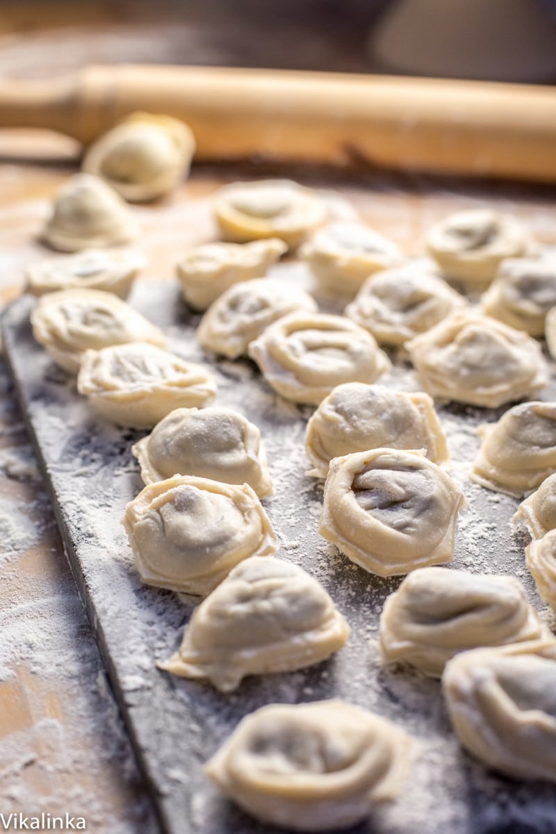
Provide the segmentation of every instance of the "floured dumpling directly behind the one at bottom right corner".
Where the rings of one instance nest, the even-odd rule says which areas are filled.
[[[513,576],[422,568],[388,596],[380,650],[386,663],[440,677],[458,651],[538,640],[547,633]]]

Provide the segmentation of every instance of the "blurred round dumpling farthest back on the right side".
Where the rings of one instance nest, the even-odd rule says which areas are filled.
[[[518,219],[489,208],[450,214],[428,231],[427,248],[449,278],[477,287],[490,284],[504,258],[531,248],[531,235]]]

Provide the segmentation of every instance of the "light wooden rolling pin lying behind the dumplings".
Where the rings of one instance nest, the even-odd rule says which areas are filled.
[[[521,84],[115,65],[0,83],[0,126],[88,144],[126,113],[182,118],[203,161],[281,162],[556,183],[556,93]]]

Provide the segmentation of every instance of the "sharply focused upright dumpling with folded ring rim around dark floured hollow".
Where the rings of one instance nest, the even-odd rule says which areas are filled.
[[[364,570],[406,574],[449,562],[464,499],[419,451],[375,449],[330,461],[319,532]]]

